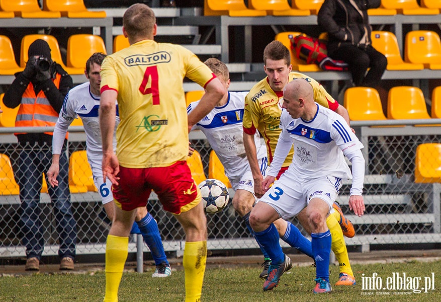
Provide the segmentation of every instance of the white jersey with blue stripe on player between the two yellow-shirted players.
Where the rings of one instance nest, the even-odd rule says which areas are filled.
[[[229,92],[228,101],[221,107],[215,107],[207,116],[200,120],[193,129],[204,132],[211,147],[225,168],[228,178],[237,178],[249,168],[248,159],[243,145],[243,108],[247,92]],[[190,113],[199,101],[187,108]],[[260,136],[254,136],[257,159],[267,156],[266,147],[260,143]]]

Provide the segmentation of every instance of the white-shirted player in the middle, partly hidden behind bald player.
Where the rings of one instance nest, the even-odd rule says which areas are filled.
[[[224,166],[225,175],[228,177],[233,190],[233,207],[244,220],[251,234],[253,231],[249,225],[249,213],[256,200],[254,195],[254,179],[243,144],[243,111],[245,96],[248,92],[228,92],[230,86],[227,66],[216,58],[210,58],[204,62],[221,83],[227,89],[226,94],[216,107],[200,120],[193,129],[200,129],[205,134],[211,147]],[[190,113],[199,101],[191,103],[187,108]],[[257,159],[260,173],[264,176],[268,167],[267,149],[260,143],[258,132],[254,135],[257,150]],[[301,235],[295,226],[288,221],[280,219],[276,222],[279,235],[290,246],[297,248],[306,255],[312,257],[311,242]],[[253,234],[254,235],[254,234]],[[269,259],[264,249],[260,249],[265,259]],[[260,278],[268,275],[268,261],[264,261],[264,269]]]

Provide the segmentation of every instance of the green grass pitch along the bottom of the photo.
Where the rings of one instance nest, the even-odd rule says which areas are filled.
[[[258,279],[260,267],[240,267],[232,269],[207,269],[202,294],[203,301],[238,302],[238,301],[439,301],[441,291],[441,261],[388,263],[371,265],[354,265],[357,277],[356,286],[333,286],[331,294],[313,295],[314,268],[294,267],[282,276],[279,286],[273,291],[263,292],[262,281]],[[397,272],[402,276],[430,276],[434,272],[435,290],[427,293],[411,293],[409,295],[392,295],[393,290],[382,290],[389,295],[363,295],[362,274],[372,276],[376,272],[382,277],[383,285],[386,278]],[[151,278],[152,271],[143,274],[136,272],[124,273],[120,286],[119,301],[184,301],[184,272],[174,271],[168,278]],[[331,284],[338,278],[338,268],[331,267]],[[423,282],[423,281],[421,281]],[[420,283],[419,287],[423,286]],[[102,301],[104,296],[104,272],[85,274],[33,274],[28,276],[0,277],[0,301]],[[401,291],[400,291],[401,292]],[[405,292],[411,292],[406,290]]]

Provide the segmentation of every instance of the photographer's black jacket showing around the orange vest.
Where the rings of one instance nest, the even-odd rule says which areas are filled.
[[[37,82],[36,80],[29,81],[23,76],[22,72],[17,72],[15,74],[16,79],[12,82],[11,86],[5,93],[3,103],[9,108],[19,106],[23,93],[26,91],[29,82],[32,82],[35,94],[43,91],[54,110],[56,112],[60,112],[64,97],[73,87],[73,81],[70,75],[67,74],[67,72],[61,67],[61,65],[54,62],[51,65],[51,74],[55,73],[59,73],[61,75],[60,87],[58,89],[52,82],[52,79],[41,82]],[[44,133],[19,134],[17,135],[17,138],[20,143],[29,142],[34,144],[35,142],[47,142],[49,145],[52,145],[52,135]]]

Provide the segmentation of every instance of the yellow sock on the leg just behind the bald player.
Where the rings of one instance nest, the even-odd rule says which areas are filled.
[[[352,268],[350,267],[349,256],[347,255],[346,244],[344,243],[343,231],[341,231],[340,224],[338,224],[338,221],[332,214],[326,218],[326,224],[331,232],[331,249],[338,261],[340,273],[354,276]]]

